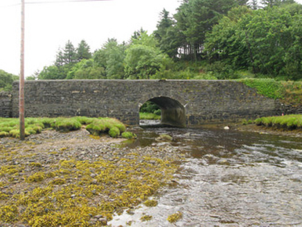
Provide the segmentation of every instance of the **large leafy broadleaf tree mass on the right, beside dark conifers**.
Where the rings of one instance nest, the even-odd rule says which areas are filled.
[[[285,75],[301,79],[301,21],[299,4],[269,10],[234,8],[206,36],[211,61],[231,69],[252,69],[255,75]]]

